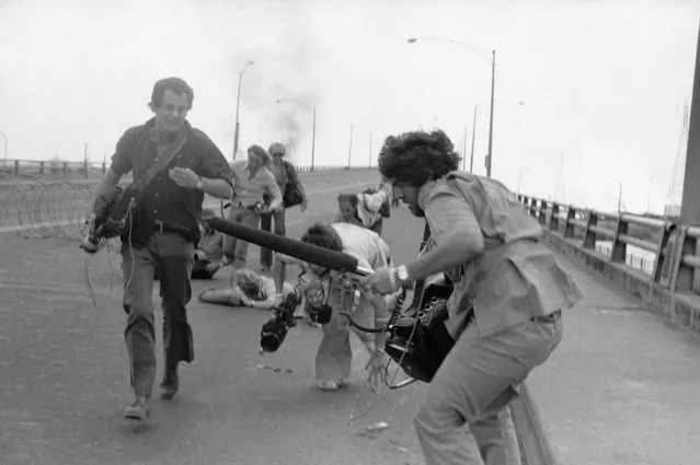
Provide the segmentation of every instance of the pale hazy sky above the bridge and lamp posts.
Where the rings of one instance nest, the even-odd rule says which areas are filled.
[[[153,82],[184,78],[190,121],[231,156],[294,144],[309,164],[376,163],[382,138],[440,127],[461,152],[479,105],[483,174],[496,49],[493,176],[571,204],[663,208],[690,102],[700,2],[685,0],[0,0],[0,131],[10,159],[110,156],[147,120]],[[524,102],[524,105],[518,104]],[[370,132],[371,146],[370,146]],[[370,152],[371,147],[371,152]],[[1,149],[0,149],[1,150]],[[685,147],[684,147],[685,151]],[[469,162],[468,162],[469,163]],[[521,174],[521,176],[519,176]],[[679,174],[682,178],[681,174]],[[653,183],[652,183],[653,177]]]

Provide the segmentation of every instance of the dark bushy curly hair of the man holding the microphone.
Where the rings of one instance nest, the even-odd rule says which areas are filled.
[[[379,152],[379,172],[395,183],[422,186],[459,167],[461,158],[441,129],[389,136]]]

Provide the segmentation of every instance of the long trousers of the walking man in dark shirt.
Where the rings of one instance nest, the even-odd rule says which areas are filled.
[[[156,318],[153,280],[160,278],[163,311],[165,365],[194,360],[192,328],[185,305],[192,298],[190,275],[194,244],[175,233],[154,233],[142,248],[122,243],[124,311],[127,316],[124,339],[131,365],[134,393],[150,396],[156,381]]]

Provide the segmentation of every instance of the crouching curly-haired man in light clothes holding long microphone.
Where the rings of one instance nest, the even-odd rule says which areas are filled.
[[[502,183],[458,171],[441,130],[389,137],[381,175],[435,246],[367,278],[380,293],[445,272],[454,282],[447,338],[454,346],[433,377],[415,429],[427,464],[520,463],[509,402],[562,338],[562,311],[581,289],[542,244],[543,231]]]

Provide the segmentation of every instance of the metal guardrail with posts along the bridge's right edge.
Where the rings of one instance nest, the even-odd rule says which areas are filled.
[[[608,213],[518,195],[530,216],[551,233],[560,234],[612,264],[628,266],[628,245],[655,255],[649,279],[675,292],[700,294],[700,228],[629,213]],[[651,239],[650,239],[651,237]],[[596,247],[608,240],[608,251]],[[636,270],[634,270],[636,271]],[[639,272],[639,271],[638,271]]]

